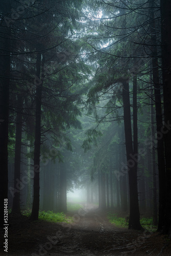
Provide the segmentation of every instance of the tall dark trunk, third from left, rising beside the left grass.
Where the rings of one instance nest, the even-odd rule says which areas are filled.
[[[37,49],[39,50],[39,48]],[[39,174],[40,174],[40,144],[41,144],[41,95],[44,79],[44,60],[41,63],[41,53],[37,53],[36,60],[36,120],[35,120],[35,142],[34,142],[34,185],[33,185],[33,207],[32,220],[38,220],[39,211]]]

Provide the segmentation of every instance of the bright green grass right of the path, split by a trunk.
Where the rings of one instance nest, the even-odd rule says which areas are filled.
[[[128,227],[129,223],[125,221],[125,218],[117,217],[116,214],[108,214],[108,219],[112,224],[118,227]],[[157,226],[153,226],[153,218],[142,218],[140,220],[141,226],[149,231],[156,231]]]

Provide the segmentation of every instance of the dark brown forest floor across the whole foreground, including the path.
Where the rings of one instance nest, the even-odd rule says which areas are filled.
[[[28,217],[9,219],[8,252],[4,252],[1,236],[0,255],[171,255],[171,243],[166,236],[118,228],[92,205],[69,212],[68,216],[73,222],[31,222]]]

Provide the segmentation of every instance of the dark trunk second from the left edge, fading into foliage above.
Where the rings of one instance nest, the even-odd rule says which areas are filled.
[[[17,96],[16,115],[16,137],[15,137],[15,158],[14,158],[14,194],[12,204],[12,214],[20,214],[20,163],[22,150],[22,108],[23,97]]]

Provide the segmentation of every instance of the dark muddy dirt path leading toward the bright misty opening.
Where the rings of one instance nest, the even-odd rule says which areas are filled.
[[[45,255],[157,256],[162,248],[165,249],[158,234],[116,227],[95,205],[84,204],[79,210],[69,212],[68,216],[73,222],[61,224],[57,231],[58,242]],[[168,249],[160,255],[170,256],[170,252]]]

